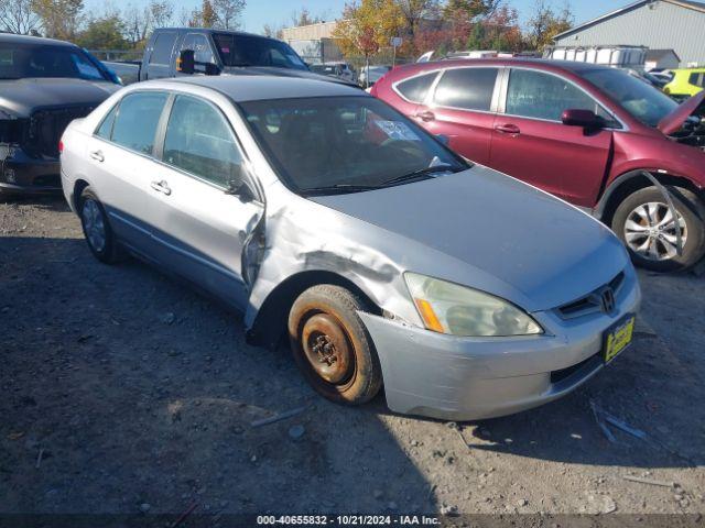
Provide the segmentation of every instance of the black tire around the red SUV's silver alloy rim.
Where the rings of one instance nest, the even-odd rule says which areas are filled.
[[[686,270],[697,264],[705,255],[705,205],[694,193],[687,189],[681,187],[666,188],[671,194],[673,205],[685,221],[686,240],[682,255],[675,255],[662,261],[650,260],[632,251],[627,243],[625,229],[631,212],[644,204],[665,201],[661,191],[655,187],[639,189],[625,198],[617,207],[611,221],[612,231],[629,250],[632,262],[640,267],[655,272]]]

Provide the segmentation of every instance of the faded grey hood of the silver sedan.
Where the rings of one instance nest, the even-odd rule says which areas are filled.
[[[465,272],[456,278],[463,284],[502,295],[529,311],[574,301],[607,284],[629,262],[619,240],[595,219],[482,166],[388,189],[312,199],[460,261]],[[413,251],[404,261],[413,271]],[[491,289],[478,278],[487,276],[508,287]]]

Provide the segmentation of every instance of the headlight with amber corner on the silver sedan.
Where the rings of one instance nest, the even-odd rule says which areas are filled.
[[[415,273],[404,278],[429,330],[466,337],[543,333],[528,314],[499,297]]]

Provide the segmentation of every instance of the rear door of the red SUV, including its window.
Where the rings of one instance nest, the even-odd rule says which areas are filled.
[[[412,117],[432,134],[447,136],[448,146],[462,156],[489,164],[498,72],[496,67],[444,70],[434,94]]]

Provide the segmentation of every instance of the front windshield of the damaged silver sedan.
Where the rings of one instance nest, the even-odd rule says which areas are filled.
[[[365,190],[414,173],[468,166],[371,97],[279,99],[240,107],[282,179],[303,194]]]

